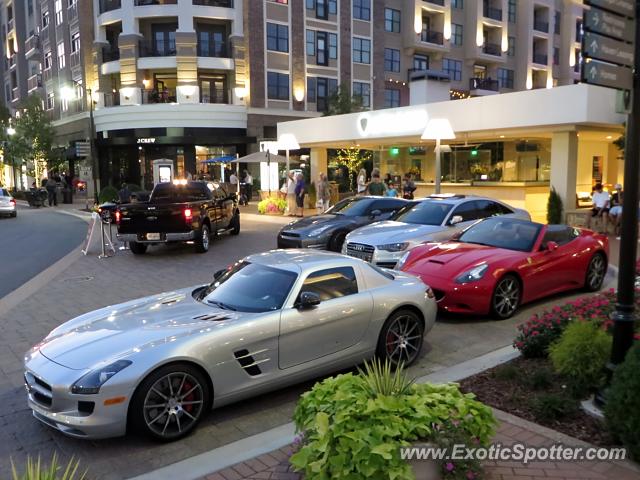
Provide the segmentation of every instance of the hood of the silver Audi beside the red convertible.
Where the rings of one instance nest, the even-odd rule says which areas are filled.
[[[417,225],[414,223],[388,220],[376,222],[354,230],[347,235],[347,241],[365,243],[367,245],[383,245],[398,242],[419,243],[429,240],[429,234],[441,232],[445,228],[446,227],[440,225]]]

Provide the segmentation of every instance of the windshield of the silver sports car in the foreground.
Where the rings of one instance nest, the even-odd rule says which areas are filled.
[[[241,312],[279,310],[297,277],[287,270],[239,262],[209,285],[200,301]]]

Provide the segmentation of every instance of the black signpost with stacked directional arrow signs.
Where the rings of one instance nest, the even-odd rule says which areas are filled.
[[[612,314],[613,344],[608,378],[631,346],[636,320],[635,277],[638,241],[638,182],[640,181],[640,0],[586,0],[582,37],[582,81],[626,90],[630,102],[625,132],[624,207],[620,228],[620,259],[616,309]],[[606,390],[596,394],[603,405]]]

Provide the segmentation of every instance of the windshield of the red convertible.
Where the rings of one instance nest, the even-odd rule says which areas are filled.
[[[494,217],[469,227],[459,241],[530,252],[542,225],[525,220]]]

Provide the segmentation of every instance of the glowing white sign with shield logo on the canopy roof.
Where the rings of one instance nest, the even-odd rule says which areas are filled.
[[[409,136],[422,134],[428,120],[424,109],[362,112],[358,115],[357,127],[361,137]]]

